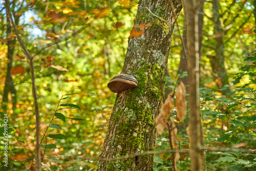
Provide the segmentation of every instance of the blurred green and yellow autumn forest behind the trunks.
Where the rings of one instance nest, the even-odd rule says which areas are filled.
[[[143,34],[133,29],[137,3],[129,0],[10,2],[15,26],[24,45],[34,55],[40,137],[46,131],[47,138],[41,143],[45,148],[42,150],[45,170],[97,169],[116,96],[107,83],[122,70],[128,39]],[[207,170],[256,167],[252,153],[256,147],[255,5],[252,0],[214,0],[203,5],[203,24],[200,24],[203,135],[205,146],[220,149],[206,152]],[[0,149],[4,151],[5,147],[7,114],[11,165],[14,170],[26,170],[31,168],[36,143],[30,62],[6,17],[4,2],[0,3],[0,14]],[[182,10],[177,20],[179,28],[174,28],[166,95],[176,90],[179,79],[187,76],[187,72],[181,72],[183,65],[180,65],[183,14]],[[176,118],[176,109],[172,116]],[[176,121],[177,149],[189,148],[185,128],[188,120],[187,115],[179,125]],[[221,147],[233,150],[224,152]],[[154,156],[155,170],[173,168],[168,149],[165,131],[158,135],[155,144],[155,151],[162,152]],[[190,168],[187,153],[180,153],[176,162],[179,170]],[[5,168],[3,161],[1,166]]]

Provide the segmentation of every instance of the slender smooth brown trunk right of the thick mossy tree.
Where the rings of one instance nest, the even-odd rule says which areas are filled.
[[[191,170],[201,171],[201,117],[199,99],[199,34],[197,1],[185,1],[187,9],[188,83],[190,107],[190,159]]]

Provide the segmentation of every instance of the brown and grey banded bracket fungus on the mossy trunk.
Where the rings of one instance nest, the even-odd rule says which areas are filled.
[[[114,93],[121,93],[124,90],[138,86],[138,81],[134,76],[127,74],[119,74],[110,79],[108,87]]]

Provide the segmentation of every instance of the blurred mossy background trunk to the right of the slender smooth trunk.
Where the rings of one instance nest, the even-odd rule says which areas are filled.
[[[220,88],[222,88],[225,84],[228,83],[226,80],[227,72],[224,65],[225,62],[225,56],[224,56],[224,41],[223,41],[223,29],[221,27],[220,22],[220,12],[219,12],[219,0],[212,0],[212,12],[214,15],[212,18],[214,19],[214,34],[215,34],[215,56],[210,57],[211,62],[211,68],[212,71],[217,73],[218,78],[221,82],[217,81],[217,85]]]

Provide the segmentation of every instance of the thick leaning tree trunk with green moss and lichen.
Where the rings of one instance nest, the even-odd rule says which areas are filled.
[[[173,1],[176,14],[181,1]],[[163,22],[153,16],[166,20]],[[167,1],[140,1],[134,28],[143,35],[131,37],[121,73],[133,75],[138,87],[117,94],[106,133],[102,159],[141,153],[126,159],[100,161],[98,170],[153,170],[153,156],[143,154],[154,149],[155,119],[161,108],[165,74],[172,41],[174,16]],[[141,25],[142,24],[142,25]]]

